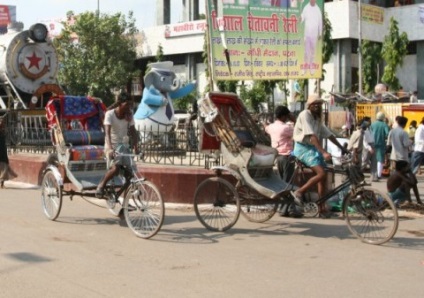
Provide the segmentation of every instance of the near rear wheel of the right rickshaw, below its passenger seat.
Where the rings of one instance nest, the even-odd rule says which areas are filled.
[[[211,177],[204,180],[194,194],[194,211],[208,230],[226,231],[240,216],[240,200],[228,181]]]

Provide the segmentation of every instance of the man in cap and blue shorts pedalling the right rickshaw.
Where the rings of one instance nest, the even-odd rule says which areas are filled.
[[[325,194],[326,173],[324,167],[326,165],[325,161],[331,160],[331,154],[324,150],[322,146],[323,139],[329,139],[340,148],[343,154],[347,153],[347,150],[322,122],[323,102],[324,100],[318,94],[311,94],[306,102],[306,110],[299,114],[294,126],[294,155],[315,173],[315,176],[292,193],[297,204],[302,204],[303,194],[314,185],[318,186],[318,195],[320,197]],[[321,215],[324,215],[324,206],[319,207]]]

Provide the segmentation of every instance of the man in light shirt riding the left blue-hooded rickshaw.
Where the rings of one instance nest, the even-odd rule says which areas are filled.
[[[131,145],[134,152],[137,153],[137,134],[134,127],[134,118],[132,113],[133,101],[126,93],[121,93],[118,100],[109,107],[103,121],[105,128],[105,155],[108,163],[108,171],[100,181],[96,190],[96,197],[104,197],[104,188],[106,184],[115,175],[118,174],[119,165],[129,165],[130,160],[122,156],[115,157],[114,152],[130,153],[128,133],[131,135]]]

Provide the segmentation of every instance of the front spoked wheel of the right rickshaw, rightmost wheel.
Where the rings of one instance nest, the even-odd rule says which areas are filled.
[[[382,244],[396,234],[399,219],[395,205],[388,195],[373,188],[363,188],[348,195],[343,212],[349,230],[361,241]]]

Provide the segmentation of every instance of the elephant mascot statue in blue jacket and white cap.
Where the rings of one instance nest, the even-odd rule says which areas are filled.
[[[167,144],[167,132],[174,125],[172,100],[192,92],[196,84],[190,83],[180,88],[180,81],[172,71],[172,61],[150,63],[150,71],[144,77],[143,97],[134,114],[135,127],[140,132],[142,142],[151,137],[159,137],[162,145]]]

